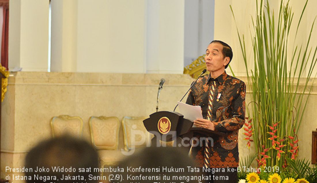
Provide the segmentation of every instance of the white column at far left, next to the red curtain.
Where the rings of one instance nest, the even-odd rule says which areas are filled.
[[[47,71],[49,0],[10,1],[9,69]]]

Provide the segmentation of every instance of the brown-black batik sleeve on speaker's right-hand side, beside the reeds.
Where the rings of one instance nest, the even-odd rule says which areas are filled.
[[[241,82],[240,88],[237,90],[237,94],[231,103],[232,112],[229,118],[223,121],[212,123],[215,125],[215,131],[218,132],[232,132],[239,130],[245,120],[245,84]]]

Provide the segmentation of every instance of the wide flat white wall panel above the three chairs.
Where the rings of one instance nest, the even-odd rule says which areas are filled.
[[[145,0],[78,0],[77,71],[145,73]]]

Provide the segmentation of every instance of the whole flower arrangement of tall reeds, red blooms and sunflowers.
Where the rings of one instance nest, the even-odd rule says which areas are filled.
[[[246,54],[250,48],[247,48],[245,37],[236,25],[253,100],[251,108],[246,108],[252,119],[246,118],[243,134],[247,146],[250,148],[253,144],[256,149],[255,157],[249,155],[240,164],[249,167],[256,159],[258,167],[273,169],[257,173],[238,172],[241,182],[317,182],[317,166],[310,167],[308,160],[297,159],[297,133],[307,106],[308,97],[305,95],[309,96],[312,88],[309,80],[317,63],[317,46],[310,44],[314,22],[308,39],[288,51],[291,50],[288,43],[296,42],[307,2],[303,3],[301,15],[294,26],[294,13],[289,1],[281,1],[277,14],[270,9],[268,0],[256,1],[256,16],[252,17],[251,30],[251,59],[254,60],[251,71]],[[290,40],[290,31],[296,32],[294,40]],[[303,86],[301,91],[300,85]]]

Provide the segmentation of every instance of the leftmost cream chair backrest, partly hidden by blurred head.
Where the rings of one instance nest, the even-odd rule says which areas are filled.
[[[60,115],[51,119],[53,137],[67,133],[75,137],[82,137],[83,122],[79,116]]]

